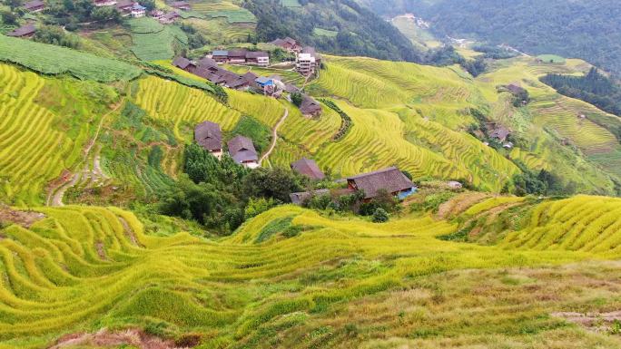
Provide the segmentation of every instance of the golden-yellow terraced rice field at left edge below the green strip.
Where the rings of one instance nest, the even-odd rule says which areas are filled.
[[[43,203],[48,182],[80,160],[92,131],[88,123],[72,135],[58,127],[61,115],[38,104],[46,83],[35,73],[0,64],[0,198],[7,203]]]

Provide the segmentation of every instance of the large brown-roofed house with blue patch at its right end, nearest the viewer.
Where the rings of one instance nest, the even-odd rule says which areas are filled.
[[[399,199],[404,199],[416,192],[416,186],[396,167],[364,173],[347,179],[351,190],[364,190],[364,199],[378,196],[380,190],[386,190]]]

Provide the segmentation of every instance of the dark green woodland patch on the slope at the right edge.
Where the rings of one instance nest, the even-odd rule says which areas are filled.
[[[595,68],[585,76],[548,74],[541,81],[567,97],[589,102],[603,111],[621,116],[621,86]]]

